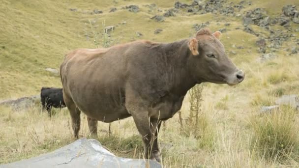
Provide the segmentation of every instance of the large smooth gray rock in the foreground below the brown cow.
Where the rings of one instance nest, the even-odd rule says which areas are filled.
[[[1,168],[162,168],[153,160],[115,156],[100,142],[86,138],[76,140],[53,152],[30,159],[0,165]]]

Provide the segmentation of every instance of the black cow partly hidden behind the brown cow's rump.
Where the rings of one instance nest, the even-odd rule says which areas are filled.
[[[65,107],[62,88],[42,87],[40,90],[40,99],[43,110],[47,110],[50,117],[52,107],[60,109]]]

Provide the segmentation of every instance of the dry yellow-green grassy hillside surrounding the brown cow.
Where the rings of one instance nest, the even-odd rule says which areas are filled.
[[[299,167],[298,112],[284,108],[272,114],[258,115],[261,106],[273,105],[279,96],[299,94],[299,54],[290,55],[299,43],[299,31],[296,31],[299,24],[290,21],[286,28],[279,24],[270,25],[274,32],[281,30],[283,35],[292,34],[275,48],[269,46],[273,41],[268,39],[271,33],[267,28],[250,25],[259,33],[256,36],[243,30],[242,19],[247,11],[257,7],[265,8],[267,16],[275,19],[283,14],[281,9],[286,4],[297,5],[299,10],[299,1],[251,0],[249,5],[246,0],[240,10],[234,8],[234,15],[201,14],[179,8],[176,16],[164,17],[164,22],[150,19],[174,8],[176,1],[2,0],[0,99],[39,94],[42,86],[61,87],[59,76],[45,68],[59,69],[64,54],[70,50],[136,39],[171,42],[193,36],[196,32],[194,24],[209,22],[207,27],[212,31],[226,28],[221,41],[228,55],[245,71],[245,80],[234,87],[202,84],[203,101],[196,125],[199,131],[194,131],[193,122],[185,122],[190,119],[189,104],[193,101],[190,97],[185,99],[182,118],[176,114],[162,126],[159,134],[164,166]],[[193,0],[180,2],[191,4]],[[240,2],[227,0],[223,6]],[[150,5],[152,3],[155,5]],[[125,8],[129,5],[138,5],[139,11],[129,11]],[[113,7],[117,10],[109,12]],[[94,9],[103,13],[95,14]],[[225,26],[227,23],[230,25]],[[115,26],[110,38],[103,35],[106,26]],[[158,28],[163,31],[155,34]],[[143,35],[138,36],[137,32]],[[263,55],[256,44],[259,38],[267,39],[266,54],[272,53],[275,58],[257,61]],[[67,110],[56,111],[57,115],[49,119],[38,106],[26,112],[0,107],[0,164],[37,156],[73,141]],[[80,135],[89,136],[84,114],[81,123]],[[98,127],[103,129],[99,131],[99,141],[115,154],[140,157],[141,139],[132,118],[112,123],[111,137],[103,133],[108,124],[99,122]],[[181,130],[179,134],[177,130]]]

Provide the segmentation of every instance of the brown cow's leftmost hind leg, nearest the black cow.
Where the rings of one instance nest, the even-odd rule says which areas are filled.
[[[63,94],[63,99],[64,99],[65,105],[71,115],[74,136],[76,139],[78,139],[79,138],[79,130],[80,130],[81,111],[77,108],[74,101],[70,97],[66,96],[66,94]]]

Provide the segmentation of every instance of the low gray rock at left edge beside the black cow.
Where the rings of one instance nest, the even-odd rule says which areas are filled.
[[[8,100],[2,100],[0,101],[1,106],[11,106],[12,110],[14,111],[20,111],[20,110],[26,110],[36,103],[40,102],[40,95],[34,95],[29,97],[21,97],[18,99],[8,99]]]

